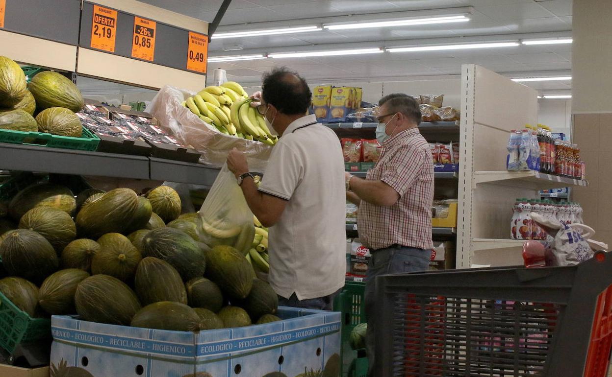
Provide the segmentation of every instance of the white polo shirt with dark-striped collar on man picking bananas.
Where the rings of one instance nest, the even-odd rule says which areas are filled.
[[[338,136],[307,115],[291,123],[268,160],[259,191],[288,200],[269,229],[270,285],[300,300],[343,287],[346,273],[344,159]]]

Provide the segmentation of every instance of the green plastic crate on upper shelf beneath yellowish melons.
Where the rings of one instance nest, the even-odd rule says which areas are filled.
[[[0,130],[0,142],[94,151],[98,148],[100,139],[83,127],[83,135],[81,137],[59,136],[42,132]]]

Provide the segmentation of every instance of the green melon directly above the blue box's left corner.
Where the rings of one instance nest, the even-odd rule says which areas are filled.
[[[76,286],[88,277],[88,273],[76,268],[51,274],[40,286],[40,306],[50,315],[75,314]]]

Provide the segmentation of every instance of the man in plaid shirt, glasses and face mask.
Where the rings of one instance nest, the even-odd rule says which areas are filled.
[[[379,101],[376,139],[382,146],[378,163],[361,179],[346,173],[346,197],[359,206],[359,238],[372,257],[365,280],[366,335],[373,377],[375,346],[375,277],[425,271],[431,248],[433,162],[419,133],[419,104],[405,94]]]

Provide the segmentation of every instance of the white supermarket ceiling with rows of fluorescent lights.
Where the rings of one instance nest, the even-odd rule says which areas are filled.
[[[222,4],[222,0],[142,1],[209,22]],[[519,43],[496,48],[210,62],[209,72],[223,68],[228,78],[253,84],[260,82],[263,72],[279,65],[293,68],[310,82],[395,81],[406,76],[458,75],[461,64],[468,63],[510,77],[571,75],[571,44],[520,43],[526,39],[570,38],[571,0],[233,0],[216,34],[325,26],[350,17],[356,17],[361,23],[384,21],[398,12],[408,12],[401,14],[409,18],[449,15],[455,10],[455,13],[469,10],[469,21],[347,30],[324,28],[256,37],[215,38],[212,35],[209,51],[211,57],[225,57],[458,43]],[[539,90],[567,90],[571,81],[526,84]]]

